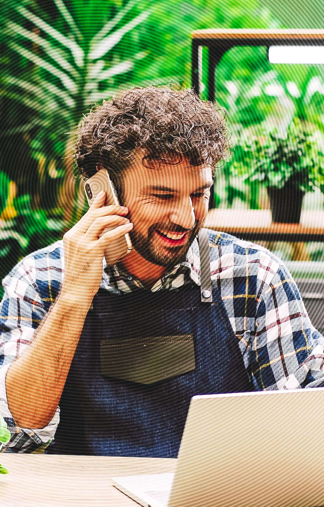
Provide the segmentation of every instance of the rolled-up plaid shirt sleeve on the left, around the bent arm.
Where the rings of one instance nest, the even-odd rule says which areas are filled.
[[[49,445],[59,424],[57,411],[47,426],[41,429],[19,427],[8,406],[6,374],[12,363],[30,345],[35,329],[46,315],[35,282],[33,257],[27,257],[3,280],[5,293],[0,304],[0,414],[11,433],[10,442],[2,452],[31,453]]]

